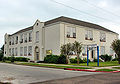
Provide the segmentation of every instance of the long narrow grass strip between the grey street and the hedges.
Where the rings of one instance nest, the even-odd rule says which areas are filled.
[[[38,66],[38,67],[49,67],[49,68],[73,68],[73,69],[91,69],[88,67],[75,67],[75,66],[62,66],[62,65],[47,65],[47,64],[38,64],[38,63],[16,63],[19,65],[28,65],[28,66]]]

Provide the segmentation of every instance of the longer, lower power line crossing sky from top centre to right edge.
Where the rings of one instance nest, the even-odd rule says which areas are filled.
[[[93,14],[90,14],[90,13],[87,13],[87,12],[84,12],[84,11],[81,11],[81,10],[79,10],[79,9],[77,9],[77,8],[73,8],[73,7],[71,7],[71,6],[65,5],[65,4],[60,3],[60,2],[57,2],[57,1],[55,1],[55,0],[50,0],[50,1],[52,1],[52,2],[54,2],[54,3],[57,3],[57,4],[60,4],[60,5],[63,5],[63,6],[65,6],[65,7],[71,8],[71,9],[73,9],[73,10],[76,10],[76,11],[78,11],[78,12],[84,13],[84,14],[89,15],[89,16],[92,16],[92,17],[95,17],[95,18],[99,18],[99,19],[101,19],[101,20],[104,19],[104,20],[108,20],[108,21],[113,22],[113,21],[110,20],[110,19],[106,19],[106,18],[98,17],[98,16],[96,16],[96,15],[93,15]],[[116,24],[116,23],[118,23],[118,22],[113,22],[113,23]],[[120,24],[120,23],[118,23],[118,24]]]

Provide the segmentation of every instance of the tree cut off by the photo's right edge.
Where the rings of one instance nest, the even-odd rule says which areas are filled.
[[[120,64],[120,40],[114,40],[111,44],[112,49],[114,50],[114,52],[117,54],[118,56],[118,63]]]

